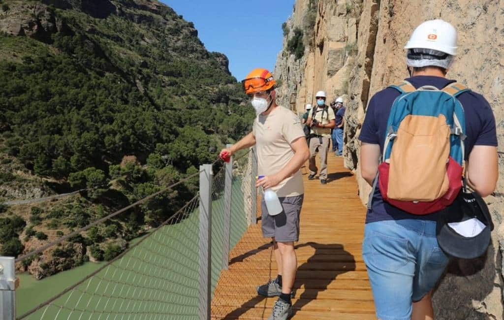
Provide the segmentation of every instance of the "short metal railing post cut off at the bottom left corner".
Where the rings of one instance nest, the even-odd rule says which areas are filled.
[[[0,257],[0,318],[16,318],[16,268],[14,257]]]

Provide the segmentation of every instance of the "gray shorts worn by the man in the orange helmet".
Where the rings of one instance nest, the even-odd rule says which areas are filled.
[[[264,237],[275,237],[277,242],[299,240],[299,214],[304,195],[279,198],[283,211],[276,216],[268,214],[266,203],[261,201],[261,223]]]

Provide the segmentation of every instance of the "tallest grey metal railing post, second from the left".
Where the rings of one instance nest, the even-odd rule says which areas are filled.
[[[210,320],[212,296],[212,183],[211,164],[200,166],[199,282],[200,320]]]

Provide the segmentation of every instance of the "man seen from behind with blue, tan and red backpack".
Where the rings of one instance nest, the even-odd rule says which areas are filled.
[[[455,28],[426,21],[405,49],[410,78],[369,100],[359,137],[362,177],[374,185],[362,255],[382,320],[433,318],[432,289],[449,260],[436,240],[439,210],[457,196],[464,165],[482,197],[498,177],[492,109],[445,78],[457,54]]]

